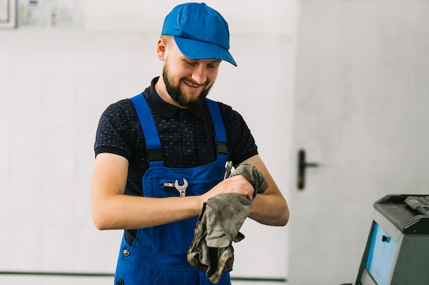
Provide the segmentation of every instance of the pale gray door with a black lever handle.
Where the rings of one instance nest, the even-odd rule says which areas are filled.
[[[292,179],[288,284],[354,283],[373,202],[429,195],[429,1],[298,11],[293,152],[319,165]]]

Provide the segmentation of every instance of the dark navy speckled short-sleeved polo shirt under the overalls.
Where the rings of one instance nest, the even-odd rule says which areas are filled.
[[[204,102],[188,109],[171,105],[156,93],[159,77],[143,92],[164,151],[167,167],[196,167],[216,160],[214,128]],[[234,165],[258,154],[254,137],[242,116],[230,106],[218,103],[225,124],[229,160]],[[119,154],[129,161],[125,195],[143,195],[142,178],[149,168],[145,137],[136,109],[130,99],[110,105],[99,120],[95,137],[95,155],[102,152]],[[133,240],[135,232],[127,231]]]

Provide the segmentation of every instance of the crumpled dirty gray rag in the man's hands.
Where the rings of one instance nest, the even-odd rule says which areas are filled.
[[[248,163],[238,166],[231,176],[243,175],[254,187],[256,193],[268,188],[265,175]],[[206,271],[208,279],[217,284],[222,273],[232,271],[234,248],[244,235],[238,232],[249,216],[253,199],[236,193],[216,195],[204,203],[199,214],[194,239],[188,250],[188,262],[196,269]]]

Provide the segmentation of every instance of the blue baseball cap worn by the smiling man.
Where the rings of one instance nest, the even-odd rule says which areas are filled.
[[[191,59],[222,59],[237,66],[230,49],[228,23],[205,3],[177,5],[165,17],[161,35],[173,36],[182,54]]]

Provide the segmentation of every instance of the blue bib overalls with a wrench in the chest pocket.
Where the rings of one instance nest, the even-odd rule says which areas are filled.
[[[217,160],[208,165],[193,168],[165,167],[160,155],[161,143],[154,119],[145,97],[142,94],[131,98],[142,126],[149,153],[149,169],[143,176],[143,195],[145,197],[167,198],[180,196],[172,187],[174,183],[188,183],[184,195],[201,195],[217,185],[225,174],[226,134],[219,106],[206,99],[215,128],[217,141]],[[121,244],[116,285],[208,285],[213,284],[206,272],[198,271],[186,259],[188,248],[198,217],[176,221],[162,226],[139,229],[132,245]],[[230,285],[229,273],[223,273],[219,285]]]

